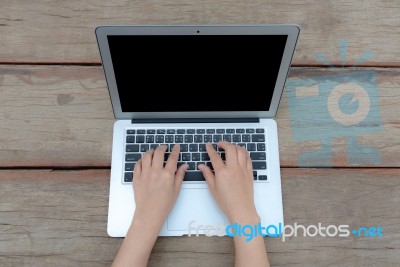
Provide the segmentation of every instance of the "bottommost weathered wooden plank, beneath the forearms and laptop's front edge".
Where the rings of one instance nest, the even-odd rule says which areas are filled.
[[[285,224],[380,226],[383,237],[266,238],[272,266],[398,266],[399,169],[282,169]],[[109,170],[0,171],[1,266],[109,266]],[[159,238],[150,266],[232,266],[228,237]]]

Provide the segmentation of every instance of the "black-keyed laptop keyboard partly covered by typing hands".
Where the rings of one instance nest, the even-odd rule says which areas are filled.
[[[266,133],[262,128],[209,128],[209,129],[128,129],[125,139],[124,183],[131,183],[136,162],[147,150],[159,145],[168,146],[164,161],[175,144],[181,152],[178,166],[187,163],[184,181],[205,181],[197,165],[206,164],[212,169],[205,144],[211,142],[222,160],[225,152],[216,143],[226,140],[245,147],[253,162],[253,177],[256,181],[267,181]]]

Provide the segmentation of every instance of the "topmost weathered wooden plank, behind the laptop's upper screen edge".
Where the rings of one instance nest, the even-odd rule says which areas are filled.
[[[1,62],[100,62],[99,24],[297,23],[295,64],[320,64],[322,53],[341,65],[338,41],[349,42],[346,63],[370,51],[366,65],[400,66],[397,0],[319,1],[61,1],[2,0]]]

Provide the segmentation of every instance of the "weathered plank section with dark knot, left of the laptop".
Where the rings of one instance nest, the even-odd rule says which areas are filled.
[[[114,119],[100,67],[0,69],[2,166],[110,165]]]

